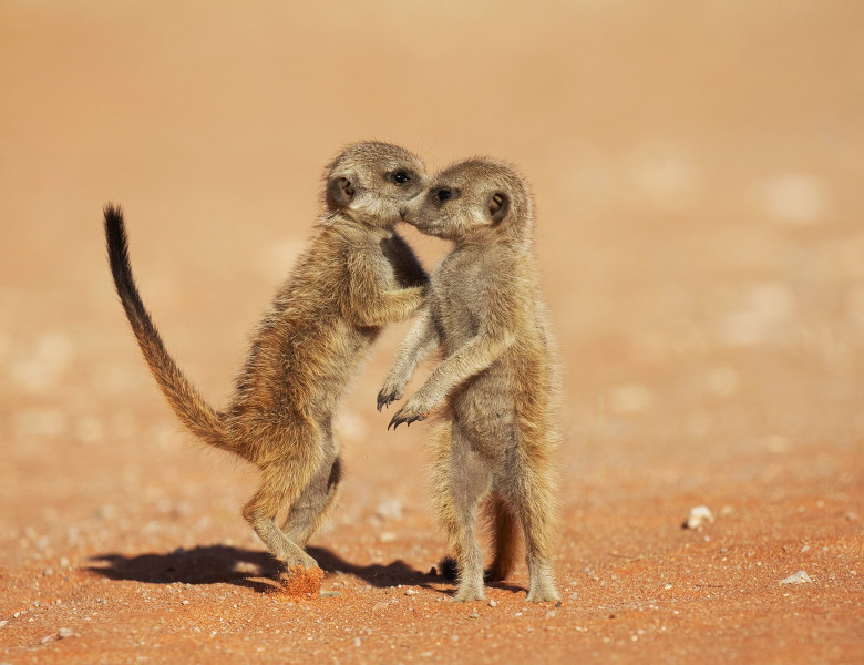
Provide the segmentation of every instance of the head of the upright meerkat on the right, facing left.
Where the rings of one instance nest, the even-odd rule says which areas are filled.
[[[435,175],[425,194],[409,206],[405,222],[457,243],[484,236],[525,239],[532,207],[527,183],[513,166],[479,157]]]

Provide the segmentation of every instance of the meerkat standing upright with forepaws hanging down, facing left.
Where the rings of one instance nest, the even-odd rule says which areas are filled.
[[[428,306],[398,351],[378,409],[401,399],[420,359],[441,347],[443,360],[390,426],[442,406],[449,412],[433,492],[455,554],[455,600],[484,597],[475,533],[483,505],[494,548],[486,580],[512,571],[522,532],[527,600],[557,601],[551,556],[559,387],[536,280],[531,193],[512,166],[470,160],[436,175],[405,221],[455,246],[432,275]]]

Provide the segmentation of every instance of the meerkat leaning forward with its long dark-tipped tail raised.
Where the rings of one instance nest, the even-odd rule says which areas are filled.
[[[393,226],[426,182],[419,157],[385,143],[353,144],[329,164],[323,214],[254,332],[222,411],[166,350],[133,278],[122,212],[104,209],[114,284],[144,359],[193,434],[260,469],[243,515],[281,572],[317,566],[305,546],[341,480],[332,427],[341,393],[382,327],[424,300],[428,276]]]

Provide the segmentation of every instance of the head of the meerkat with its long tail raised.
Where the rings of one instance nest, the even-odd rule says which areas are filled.
[[[342,212],[372,226],[392,226],[407,203],[429,183],[416,155],[390,143],[367,141],[347,147],[327,168],[327,212]]]

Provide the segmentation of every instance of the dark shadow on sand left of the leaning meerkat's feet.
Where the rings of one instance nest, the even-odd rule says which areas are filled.
[[[276,589],[278,562],[267,552],[226,545],[178,548],[167,553],[92,556],[88,570],[109,580],[152,584],[234,584],[266,593]]]

